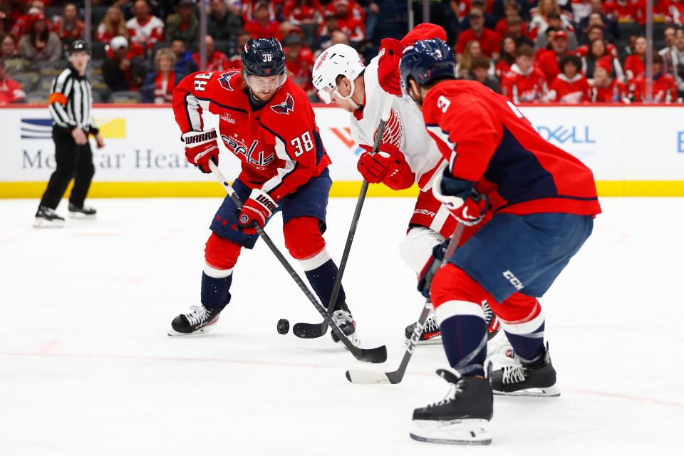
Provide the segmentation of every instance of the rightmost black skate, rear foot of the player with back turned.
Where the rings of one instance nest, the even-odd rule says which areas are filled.
[[[521,363],[520,366],[504,366],[492,372],[492,390],[504,396],[549,396],[561,395],[556,386],[556,371],[551,364],[549,349],[535,363]]]

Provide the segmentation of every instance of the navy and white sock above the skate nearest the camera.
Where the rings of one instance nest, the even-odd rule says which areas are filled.
[[[435,316],[450,366],[461,375],[484,376],[487,323],[482,306],[467,301],[447,301],[437,307]]]

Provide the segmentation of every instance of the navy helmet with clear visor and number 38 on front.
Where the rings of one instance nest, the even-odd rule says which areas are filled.
[[[250,39],[244,45],[242,52],[242,72],[247,86],[257,92],[272,91],[264,90],[263,81],[255,78],[275,78],[277,87],[285,83],[287,70],[285,68],[285,53],[280,42],[276,38]],[[275,90],[275,89],[273,89]]]

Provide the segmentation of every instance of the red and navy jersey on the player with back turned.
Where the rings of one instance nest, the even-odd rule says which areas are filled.
[[[494,214],[601,212],[591,170],[481,83],[438,83],[423,100],[423,118],[453,175],[475,182]]]

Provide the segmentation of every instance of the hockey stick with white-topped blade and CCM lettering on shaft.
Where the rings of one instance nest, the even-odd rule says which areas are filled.
[[[454,252],[456,252],[458,243],[461,240],[461,236],[463,235],[464,229],[464,224],[459,222],[456,225],[456,229],[454,229],[454,234],[452,235],[451,240],[449,241],[447,252],[445,252],[444,259],[442,259],[442,266],[447,264],[447,262],[452,257]],[[411,356],[413,356],[413,351],[415,351],[416,343],[418,343],[420,334],[423,333],[423,326],[425,326],[427,316],[430,314],[430,307],[431,304],[430,300],[428,299],[425,301],[423,311],[420,312],[420,316],[418,317],[418,323],[415,323],[415,329],[413,330],[413,334],[411,335],[411,338],[408,341],[408,346],[406,347],[404,357],[401,359],[399,368],[396,371],[373,372],[361,371],[359,369],[349,369],[346,372],[347,380],[349,380],[351,383],[363,383],[372,385],[388,385],[399,383],[404,378],[404,374],[406,373],[406,367],[408,366],[408,362],[411,361]]]

